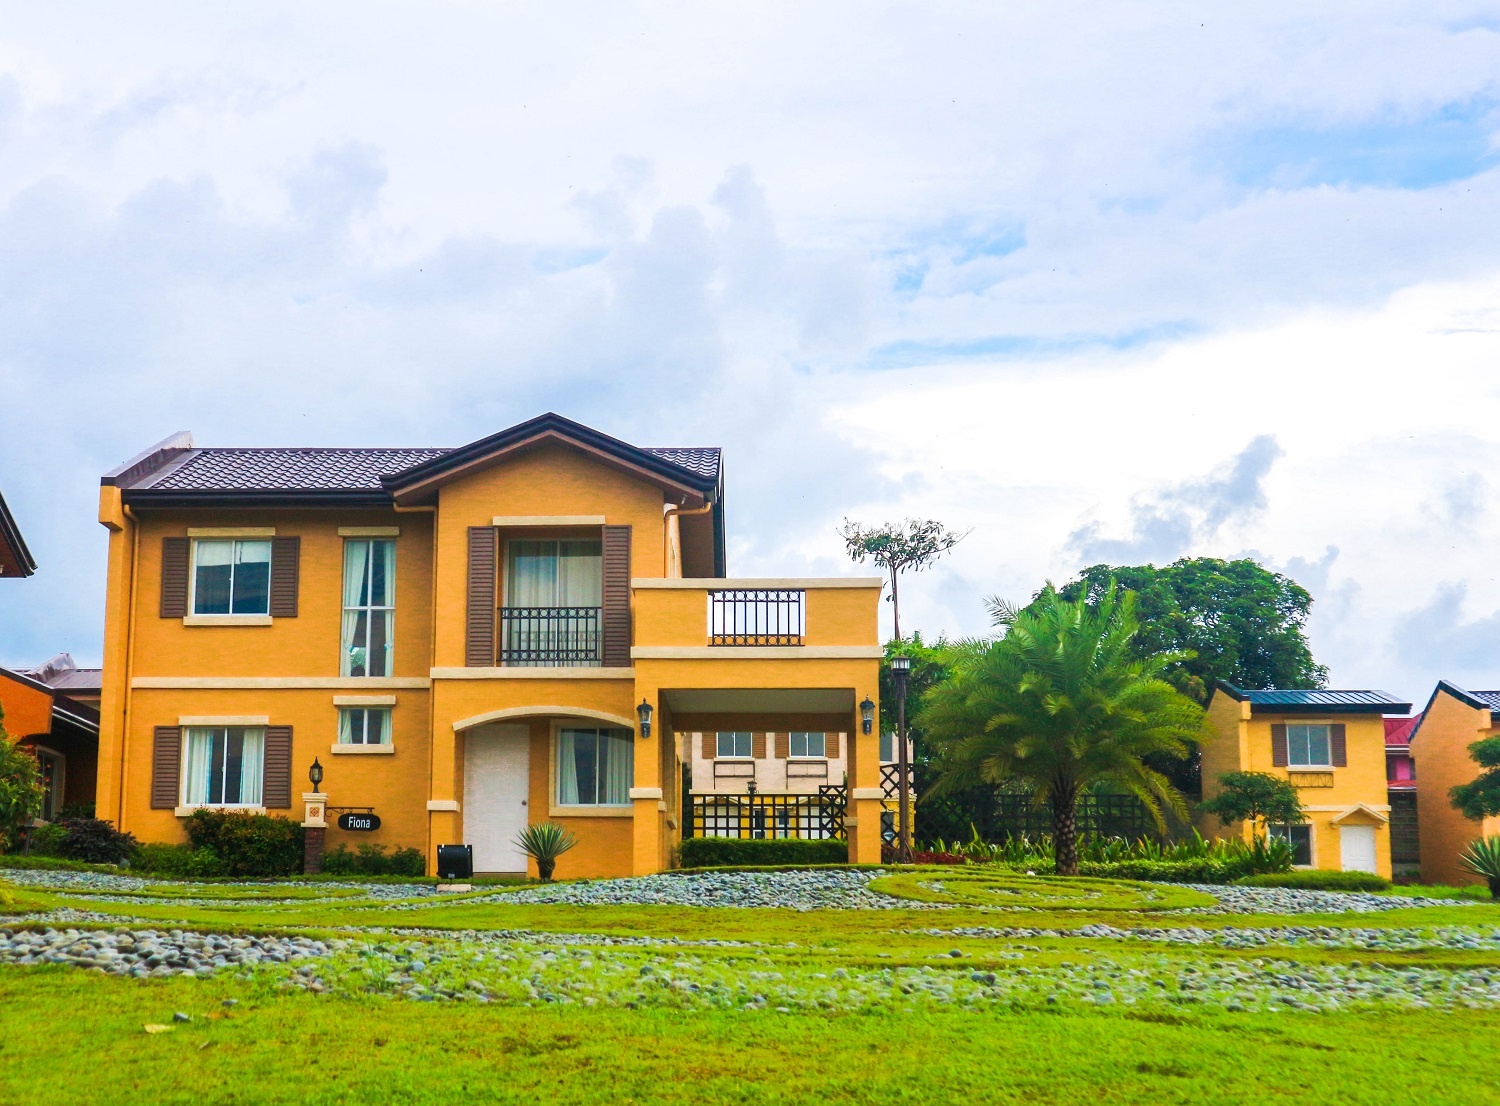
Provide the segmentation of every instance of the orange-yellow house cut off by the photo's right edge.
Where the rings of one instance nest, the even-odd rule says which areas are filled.
[[[1456,783],[1468,783],[1480,768],[1468,755],[1474,741],[1500,734],[1500,692],[1466,692],[1440,680],[1412,734],[1416,776],[1416,822],[1422,849],[1422,881],[1484,882],[1460,866],[1458,857],[1478,837],[1500,834],[1500,818],[1472,821],[1449,801]]]

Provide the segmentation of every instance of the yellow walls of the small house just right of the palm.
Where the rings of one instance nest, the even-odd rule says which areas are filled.
[[[1272,761],[1270,726],[1275,723],[1342,723],[1348,764],[1342,768],[1300,771],[1278,768]],[[1212,738],[1203,744],[1203,798],[1220,792],[1218,776],[1226,771],[1263,771],[1293,783],[1298,777],[1330,779],[1332,786],[1298,786],[1298,797],[1312,827],[1312,866],[1340,870],[1342,852],[1340,824],[1376,827],[1376,870],[1390,878],[1390,803],[1386,794],[1386,731],[1380,714],[1251,713],[1248,702],[1238,702],[1216,690],[1209,701],[1208,725]],[[1377,816],[1353,812],[1365,806]],[[1342,819],[1340,822],[1338,819]],[[1198,830],[1204,836],[1248,837],[1251,827],[1224,827],[1218,818],[1203,815]]]

